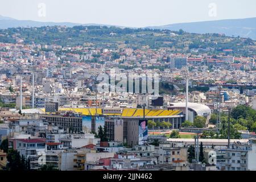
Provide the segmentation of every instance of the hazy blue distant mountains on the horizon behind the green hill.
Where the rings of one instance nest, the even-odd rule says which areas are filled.
[[[80,24],[71,22],[36,22],[32,20],[17,20],[0,15],[0,29],[15,28],[15,27],[42,27],[42,26],[110,26],[105,24]],[[121,27],[122,26],[116,26]],[[173,31],[179,31],[180,29],[197,34],[205,33],[220,33],[228,36],[241,36],[245,38],[251,38],[256,40],[256,18],[246,19],[226,19],[226,20],[214,20],[207,22],[193,22],[193,23],[176,23],[167,24],[164,26],[151,26],[148,28],[167,29]]]

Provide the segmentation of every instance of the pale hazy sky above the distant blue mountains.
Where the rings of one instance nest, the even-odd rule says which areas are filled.
[[[256,17],[255,0],[1,1],[0,15],[41,22],[99,23],[145,27],[203,20]]]

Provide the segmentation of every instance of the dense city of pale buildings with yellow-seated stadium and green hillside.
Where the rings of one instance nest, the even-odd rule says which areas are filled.
[[[181,29],[1,29],[0,170],[255,171],[255,52]]]

